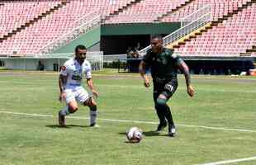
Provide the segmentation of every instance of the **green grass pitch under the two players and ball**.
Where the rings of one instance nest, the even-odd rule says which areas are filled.
[[[167,130],[154,133],[152,87],[143,87],[139,74],[92,75],[101,127],[88,127],[88,108],[80,106],[59,128],[57,73],[0,71],[0,164],[189,165],[256,156],[256,78],[192,75],[190,98],[179,75],[168,101],[178,135],[170,138]],[[131,126],[143,130],[140,144],[127,143]]]

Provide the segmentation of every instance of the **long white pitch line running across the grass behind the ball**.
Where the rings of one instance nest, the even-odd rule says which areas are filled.
[[[44,114],[34,114],[34,113],[22,113],[22,112],[12,112],[12,111],[0,111],[3,114],[11,114],[11,115],[28,115],[28,116],[36,116],[36,117],[56,117],[55,115],[44,115]],[[79,117],[79,116],[67,116],[70,119],[86,119],[88,117]],[[139,123],[139,124],[149,124],[149,125],[157,125],[158,122],[154,121],[144,121],[144,120],[118,120],[118,119],[104,119],[104,118],[97,118],[97,120],[105,120],[105,121],[113,121],[113,122],[123,122],[123,123]],[[190,128],[201,128],[206,130],[230,130],[230,131],[238,131],[238,132],[249,132],[249,133],[256,133],[256,130],[244,130],[244,129],[231,129],[225,127],[212,127],[212,126],[204,126],[204,125],[183,125],[178,124],[178,126],[183,127],[190,127]]]

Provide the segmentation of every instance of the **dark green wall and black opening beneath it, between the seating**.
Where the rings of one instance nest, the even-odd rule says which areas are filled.
[[[104,54],[126,54],[140,43],[140,49],[149,45],[150,35],[168,35],[180,27],[174,23],[136,23],[102,25],[101,50]]]

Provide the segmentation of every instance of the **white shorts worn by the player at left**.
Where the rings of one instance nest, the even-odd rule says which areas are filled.
[[[88,92],[82,86],[67,87],[64,92],[66,93],[67,104],[71,101],[78,101],[83,104],[89,98]]]

